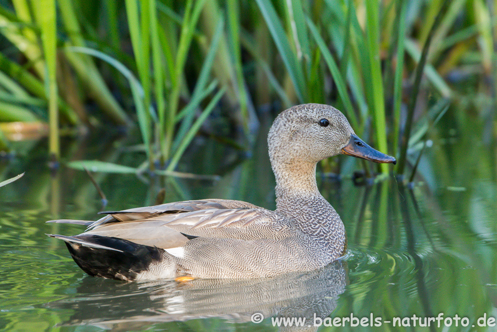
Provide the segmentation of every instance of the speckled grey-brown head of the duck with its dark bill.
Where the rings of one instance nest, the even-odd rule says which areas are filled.
[[[281,112],[268,134],[269,157],[275,164],[317,163],[346,154],[376,163],[396,163],[354,133],[347,118],[328,105],[304,104]]]

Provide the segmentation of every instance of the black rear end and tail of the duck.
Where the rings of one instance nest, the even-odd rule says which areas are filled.
[[[122,238],[80,234],[47,234],[66,242],[76,264],[90,276],[137,280],[151,265],[159,264],[164,249],[134,243]]]

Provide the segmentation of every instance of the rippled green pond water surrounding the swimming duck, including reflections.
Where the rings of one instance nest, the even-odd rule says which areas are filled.
[[[318,271],[126,283],[85,275],[64,242],[45,235],[83,231],[47,220],[154,205],[162,181],[166,202],[224,198],[274,209],[266,134],[263,126],[249,156],[197,138],[181,170],[219,179],[95,174],[105,207],[85,172],[63,166],[50,175],[44,152],[4,161],[3,179],[26,174],[0,188],[0,330],[276,331],[282,317],[307,319],[304,327],[281,328],[289,331],[495,330],[496,148],[489,152],[471,133],[434,140],[412,188],[393,177],[356,186],[351,171],[340,181],[319,173],[320,191],[344,221],[348,254]],[[68,140],[64,151],[137,165],[140,153],[126,150],[128,142],[100,140]],[[352,163],[349,170],[361,167],[340,158]]]

